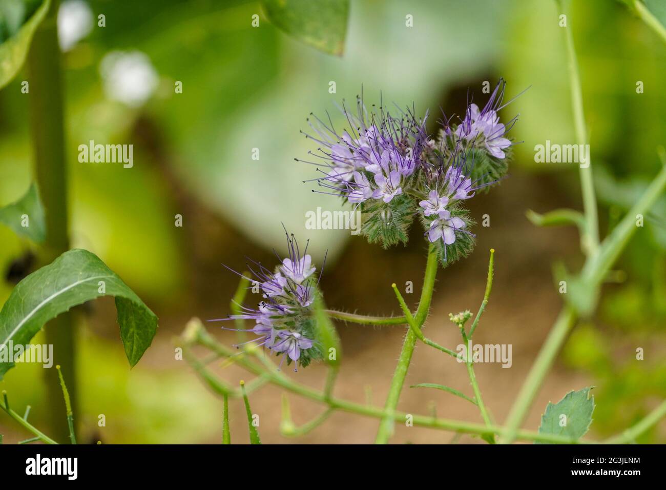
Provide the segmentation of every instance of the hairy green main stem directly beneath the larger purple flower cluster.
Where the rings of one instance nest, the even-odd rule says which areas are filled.
[[[437,275],[437,253],[434,245],[430,243],[428,246],[428,261],[426,263],[426,273],[423,281],[423,289],[421,291],[421,300],[419,301],[418,310],[416,311],[416,325],[422,327],[430,311],[430,301],[432,300],[432,291],[435,286],[435,277]],[[384,413],[386,414],[380,422],[379,431],[375,443],[386,444],[391,437],[394,428],[394,411],[398,406],[400,400],[400,392],[405,383],[407,371],[412,361],[414,354],[414,346],[416,345],[416,331],[410,328],[405,336],[405,341],[402,345],[402,351],[398,358],[396,371],[394,372],[391,386],[388,390],[386,397],[386,404],[384,405]]]

